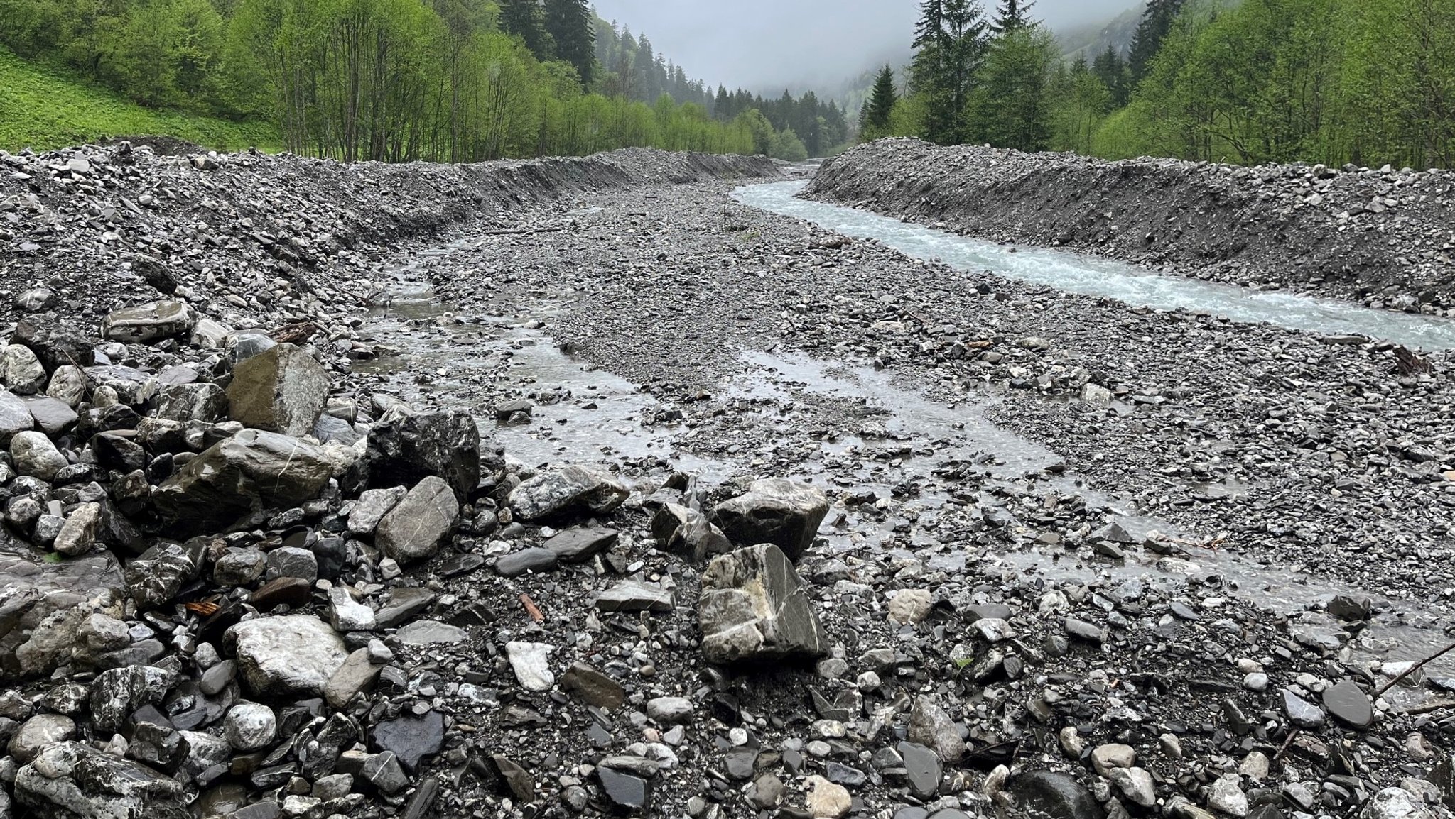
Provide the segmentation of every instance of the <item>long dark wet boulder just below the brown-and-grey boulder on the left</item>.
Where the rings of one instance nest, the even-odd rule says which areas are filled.
[[[188,461],[157,487],[163,519],[202,534],[263,508],[292,508],[327,486],[333,463],[322,447],[244,429]]]

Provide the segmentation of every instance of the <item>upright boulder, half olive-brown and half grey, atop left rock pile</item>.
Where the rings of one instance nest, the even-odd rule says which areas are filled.
[[[294,345],[278,345],[233,368],[227,401],[233,420],[301,436],[313,432],[329,400],[329,372]]]

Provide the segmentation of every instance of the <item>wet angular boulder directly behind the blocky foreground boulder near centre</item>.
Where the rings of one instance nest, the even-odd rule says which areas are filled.
[[[755,480],[746,495],[719,503],[714,521],[738,546],[771,543],[797,560],[813,546],[825,515],[828,496],[821,489],[773,477]]]

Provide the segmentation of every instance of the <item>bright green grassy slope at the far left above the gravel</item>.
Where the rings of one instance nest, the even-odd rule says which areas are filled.
[[[275,148],[279,143],[272,124],[151,111],[0,48],[0,148],[49,150],[137,134],[233,151],[250,145]]]

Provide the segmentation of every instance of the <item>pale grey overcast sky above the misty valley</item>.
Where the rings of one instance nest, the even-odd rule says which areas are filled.
[[[607,20],[646,32],[652,45],[710,84],[774,92],[838,87],[914,39],[920,0],[594,0]],[[994,1],[984,3],[994,7]],[[1052,28],[1110,20],[1136,0],[1037,0]]]

